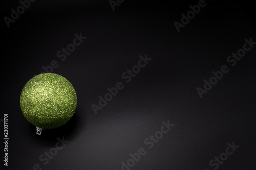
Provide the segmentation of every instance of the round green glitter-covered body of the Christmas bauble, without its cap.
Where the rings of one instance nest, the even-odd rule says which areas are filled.
[[[30,79],[20,94],[20,108],[33,125],[42,129],[60,127],[73,116],[76,92],[64,77],[44,73]]]

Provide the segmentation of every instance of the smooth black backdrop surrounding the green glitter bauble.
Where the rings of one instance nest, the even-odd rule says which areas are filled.
[[[255,54],[251,48],[235,66],[226,59],[256,41],[253,3],[206,1],[177,32],[174,21],[198,1],[128,1],[112,10],[102,1],[36,1],[8,28],[4,19],[1,61],[1,117],[8,113],[8,167],[1,169],[121,169],[121,162],[143,147],[131,169],[214,169],[209,161],[239,145],[218,169],[255,168]],[[2,1],[2,18],[10,17],[18,1]],[[56,53],[74,34],[87,37],[65,61]],[[121,75],[139,56],[152,60],[125,83]],[[41,67],[56,60],[53,72],[67,78],[77,93],[77,108],[60,128],[41,136],[23,116],[20,92]],[[201,99],[212,71],[227,65],[223,75]],[[95,115],[106,88],[121,81],[124,88]],[[144,139],[174,124],[152,149]],[[57,137],[70,142],[47,165],[39,156],[55,147]]]

